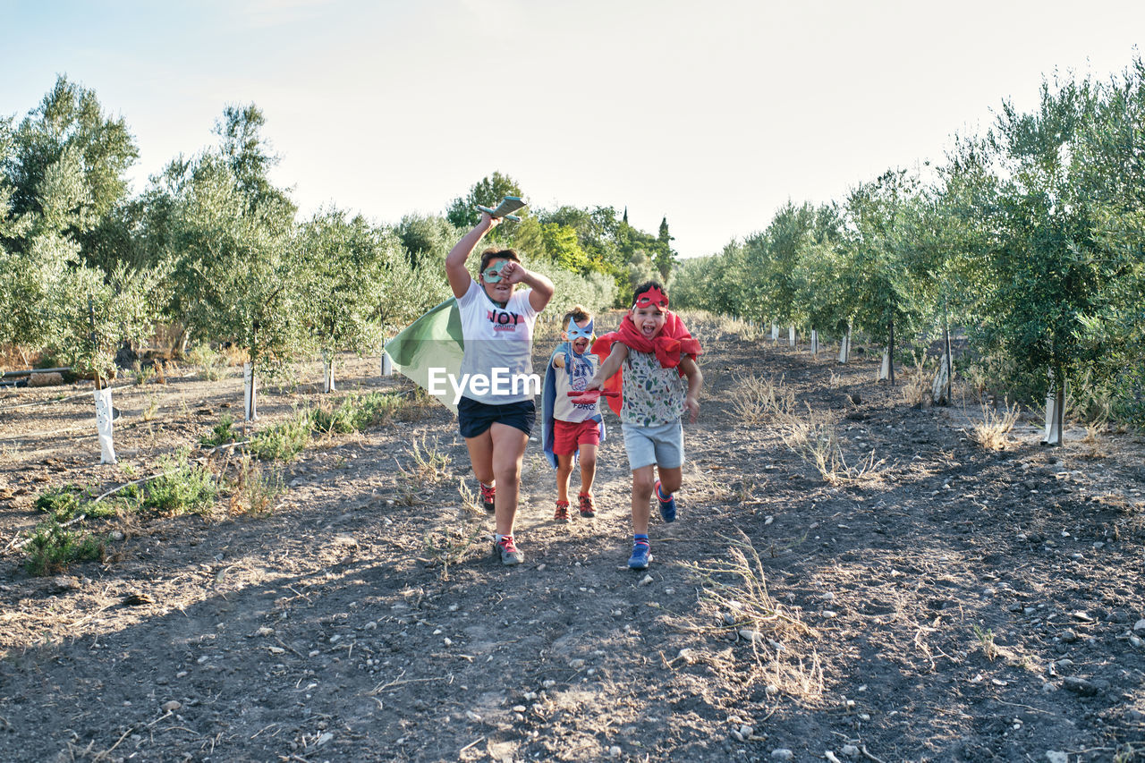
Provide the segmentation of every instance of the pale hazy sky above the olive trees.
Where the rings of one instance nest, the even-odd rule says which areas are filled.
[[[668,218],[685,257],[941,162],[1055,70],[1130,65],[1145,2],[0,0],[0,115],[56,74],[140,150],[133,190],[255,103],[301,213],[396,223],[499,171],[535,205]]]

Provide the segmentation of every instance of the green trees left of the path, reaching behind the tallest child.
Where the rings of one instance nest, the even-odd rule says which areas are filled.
[[[131,196],[135,140],[93,91],[60,77],[18,124],[0,117],[0,346],[97,377],[125,341],[158,335],[174,352],[231,343],[263,370],[315,351],[376,353],[448,297],[443,260],[475,205],[524,196],[495,172],[442,215],[387,225],[331,206],[299,219],[269,180],[263,126],[253,104],[224,109],[213,145]],[[553,280],[551,314],[625,305],[633,284],[671,276],[666,219],[654,236],[626,210],[530,212],[490,238]]]

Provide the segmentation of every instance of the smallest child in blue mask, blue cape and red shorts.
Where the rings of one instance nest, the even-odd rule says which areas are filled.
[[[562,322],[561,344],[556,345],[545,371],[542,403],[542,426],[545,457],[556,469],[556,511],[553,519],[569,521],[569,479],[579,454],[581,493],[577,496],[582,517],[597,516],[592,498],[592,480],[597,473],[597,447],[605,438],[599,399],[583,392],[600,368],[592,344],[592,315],[577,305]],[[570,395],[570,393],[572,393]]]

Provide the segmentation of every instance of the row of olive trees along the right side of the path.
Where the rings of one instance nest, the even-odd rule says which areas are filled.
[[[1087,420],[1145,425],[1145,66],[1043,81],[1036,109],[1003,103],[938,166],[789,202],[682,261],[672,299],[892,346],[962,327],[963,370],[1000,396],[1066,390]]]

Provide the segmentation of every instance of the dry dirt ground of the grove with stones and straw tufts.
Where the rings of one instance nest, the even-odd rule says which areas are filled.
[[[89,386],[2,391],[0,760],[1145,760],[1139,435],[1074,428],[1044,448],[1027,420],[989,451],[968,436],[977,403],[913,408],[870,354],[839,365],[694,330],[703,408],[646,573],[625,566],[615,418],[594,520],[552,521],[530,443],[526,561],[503,568],[434,406],[313,443],[269,517],[220,501],[92,524],[121,538],[106,560],[30,577],[13,545],[38,494],[152,473],[242,417],[242,382],[117,390],[118,465],[97,463]],[[838,411],[875,478],[832,486],[773,423],[740,423],[749,373]],[[263,391],[259,426],[314,404],[319,376]],[[408,385],[373,359],[347,361],[340,387]]]

